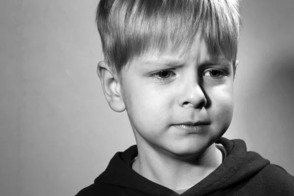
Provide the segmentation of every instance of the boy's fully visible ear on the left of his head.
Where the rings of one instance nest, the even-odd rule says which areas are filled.
[[[97,74],[110,108],[115,112],[123,112],[125,105],[122,97],[122,84],[119,77],[111,71],[104,61],[98,63]]]

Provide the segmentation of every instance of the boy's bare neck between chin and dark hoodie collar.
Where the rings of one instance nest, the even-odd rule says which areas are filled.
[[[140,145],[137,147],[138,157],[132,165],[133,170],[170,189],[195,185],[222,162],[221,151],[215,144],[204,152],[185,158],[163,154],[155,147]]]

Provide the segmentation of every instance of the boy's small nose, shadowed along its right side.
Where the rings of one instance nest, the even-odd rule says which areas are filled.
[[[196,77],[191,80],[186,78],[182,89],[183,91],[178,98],[178,103],[181,107],[202,108],[207,104],[205,92]]]

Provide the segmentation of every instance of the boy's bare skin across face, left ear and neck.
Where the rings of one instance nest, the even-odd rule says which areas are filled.
[[[104,61],[98,64],[110,107],[126,109],[135,134],[133,170],[171,189],[192,186],[221,164],[214,143],[233,114],[232,62],[210,57],[199,34],[191,50],[179,54],[140,56],[123,68],[123,82]],[[175,126],[187,122],[202,125],[194,132]]]

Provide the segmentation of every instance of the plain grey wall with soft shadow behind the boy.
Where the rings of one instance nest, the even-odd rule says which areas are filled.
[[[98,0],[0,1],[0,196],[73,196],[135,144],[96,73]],[[294,1],[243,0],[225,133],[294,174]]]

